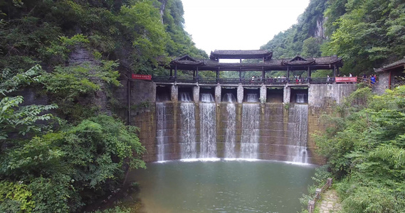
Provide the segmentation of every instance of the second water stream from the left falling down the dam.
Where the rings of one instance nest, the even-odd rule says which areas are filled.
[[[181,96],[182,97],[182,96]],[[196,158],[196,118],[194,103],[180,103],[182,159]]]

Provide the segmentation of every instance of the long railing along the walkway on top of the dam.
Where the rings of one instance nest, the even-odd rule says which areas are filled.
[[[199,84],[333,84],[333,77],[274,77],[274,78],[215,78],[188,76],[154,76],[152,81],[159,83],[199,83]],[[342,82],[342,81],[340,81]],[[343,82],[344,83],[344,82]],[[354,82],[355,83],[355,82]]]

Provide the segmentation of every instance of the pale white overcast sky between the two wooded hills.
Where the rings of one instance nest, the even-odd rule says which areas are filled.
[[[214,50],[258,50],[285,31],[310,0],[182,0],[186,31],[196,47]]]

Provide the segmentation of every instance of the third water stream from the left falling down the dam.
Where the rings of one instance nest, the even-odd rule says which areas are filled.
[[[212,94],[201,94],[200,158],[216,158],[216,107]]]

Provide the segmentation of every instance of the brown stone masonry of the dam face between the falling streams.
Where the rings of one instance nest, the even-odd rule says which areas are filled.
[[[127,118],[127,82],[122,82],[123,87],[115,91],[116,98],[122,108],[120,116]],[[144,153],[145,161],[157,160],[157,139],[156,139],[156,86],[152,82],[131,82],[130,122],[140,128],[140,141],[145,146],[147,152]],[[330,114],[335,103],[342,102],[343,97],[349,95],[356,88],[355,84],[328,84],[310,85],[308,92],[308,157],[310,163],[322,164],[325,159],[317,155],[315,142],[312,133],[322,131],[325,126],[320,122],[320,115]],[[223,158],[224,138],[226,132],[226,104],[216,105],[216,135],[217,153],[219,158]],[[259,158],[270,160],[288,160],[288,152],[285,151],[289,141],[290,130],[288,129],[288,110],[281,103],[279,104],[258,104],[261,108],[261,127],[259,141]],[[165,159],[175,160],[180,158],[181,146],[179,137],[181,136],[181,119],[179,103],[166,103],[167,116],[167,146],[165,146]],[[196,104],[196,142],[199,142],[199,104]],[[241,119],[242,104],[236,104],[236,150],[241,146]],[[271,141],[271,142],[269,142]],[[199,144],[197,144],[199,151]]]

